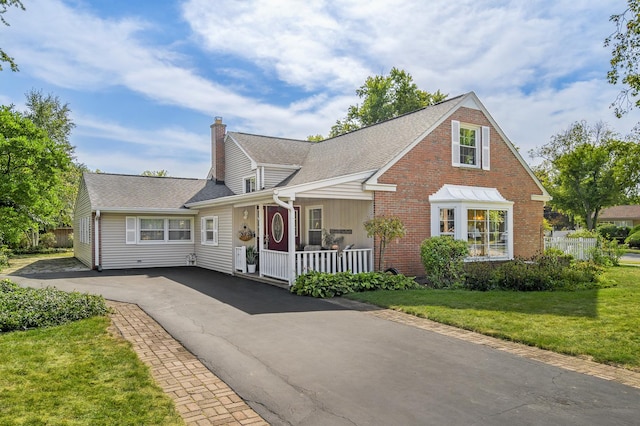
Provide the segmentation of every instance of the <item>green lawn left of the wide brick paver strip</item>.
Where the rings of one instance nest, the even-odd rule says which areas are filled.
[[[0,333],[0,424],[184,425],[109,319]]]

